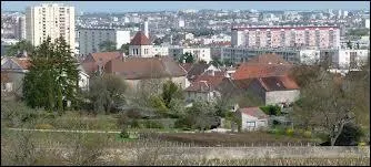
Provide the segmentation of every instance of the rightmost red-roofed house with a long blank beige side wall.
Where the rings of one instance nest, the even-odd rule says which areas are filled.
[[[290,104],[299,98],[298,84],[288,75],[253,79],[248,92],[251,92],[270,104]]]

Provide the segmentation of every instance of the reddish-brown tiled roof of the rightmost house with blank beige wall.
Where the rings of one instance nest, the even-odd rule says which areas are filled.
[[[265,91],[298,90],[298,84],[289,76],[270,76],[255,79]]]

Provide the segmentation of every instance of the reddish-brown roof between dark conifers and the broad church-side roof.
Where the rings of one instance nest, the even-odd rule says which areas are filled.
[[[92,74],[100,70],[100,67],[103,69],[103,66],[109,62],[110,60],[116,59],[122,59],[124,56],[123,53],[120,52],[98,52],[98,53],[90,53],[84,58],[84,60],[81,62],[81,65],[87,74]]]

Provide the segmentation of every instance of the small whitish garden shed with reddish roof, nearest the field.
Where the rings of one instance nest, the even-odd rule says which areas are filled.
[[[269,116],[259,107],[239,108],[237,114],[241,117],[241,131],[259,131],[269,126]]]

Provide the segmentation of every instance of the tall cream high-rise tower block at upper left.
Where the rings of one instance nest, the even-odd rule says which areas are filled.
[[[74,7],[42,3],[26,10],[26,39],[38,46],[47,36],[52,41],[63,36],[74,51]]]

